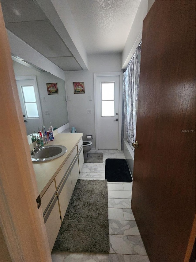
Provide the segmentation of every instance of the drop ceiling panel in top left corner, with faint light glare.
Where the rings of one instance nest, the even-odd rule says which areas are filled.
[[[5,23],[46,20],[46,16],[33,1],[1,1]]]

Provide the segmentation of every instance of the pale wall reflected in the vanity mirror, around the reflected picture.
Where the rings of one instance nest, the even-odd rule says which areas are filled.
[[[50,121],[53,128],[58,128],[68,123],[66,101],[63,101],[63,97],[66,96],[64,80],[47,72],[37,72],[15,61],[13,61],[13,68],[15,76],[36,76],[43,122],[46,130],[47,127],[50,127]],[[57,83],[58,95],[48,95],[46,83]],[[45,98],[45,102],[42,101],[43,97]],[[46,110],[49,110],[50,115],[45,115]],[[37,130],[36,128],[34,130]],[[32,133],[34,130],[32,130]]]

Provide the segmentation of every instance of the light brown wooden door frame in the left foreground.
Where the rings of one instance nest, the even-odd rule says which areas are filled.
[[[8,261],[51,262],[42,209],[37,208],[36,175],[29,157],[29,145],[13,71],[11,50],[0,4],[0,96],[2,133],[0,155],[0,227],[9,252]],[[14,177],[17,179],[13,179]],[[2,250],[2,255],[6,250]]]

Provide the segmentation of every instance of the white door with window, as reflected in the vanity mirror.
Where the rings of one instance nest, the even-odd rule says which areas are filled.
[[[27,135],[42,127],[40,100],[35,79],[16,80]]]

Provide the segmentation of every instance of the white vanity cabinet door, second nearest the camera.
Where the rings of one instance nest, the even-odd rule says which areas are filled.
[[[61,210],[61,218],[63,220],[72,195],[70,170],[68,171],[67,175],[63,179],[63,182],[59,187],[57,193],[58,193],[58,200]]]

